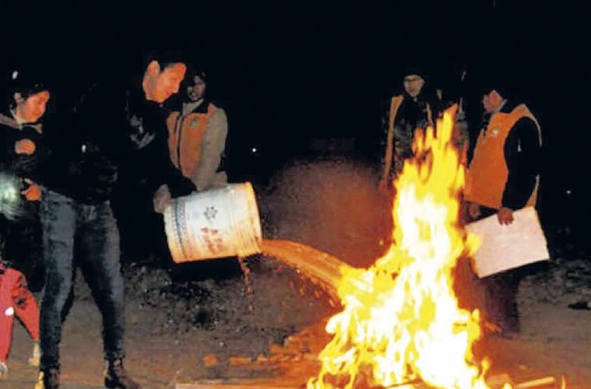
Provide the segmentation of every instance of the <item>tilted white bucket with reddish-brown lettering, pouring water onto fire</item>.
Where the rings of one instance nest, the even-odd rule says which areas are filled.
[[[261,220],[248,182],[173,199],[164,226],[177,263],[261,252]]]

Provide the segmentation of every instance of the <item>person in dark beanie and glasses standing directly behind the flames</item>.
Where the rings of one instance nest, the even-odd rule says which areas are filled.
[[[423,93],[425,85],[425,74],[416,67],[407,67],[403,77],[404,92],[391,98],[382,120],[380,190],[391,188],[391,181],[402,169],[404,160],[412,156],[416,129],[434,124],[435,104]]]

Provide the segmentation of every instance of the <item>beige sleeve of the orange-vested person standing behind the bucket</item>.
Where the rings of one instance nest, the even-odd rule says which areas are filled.
[[[216,108],[203,134],[201,144],[201,158],[195,172],[193,183],[197,190],[205,190],[213,184],[218,167],[222,160],[228,134],[226,113],[222,108]]]

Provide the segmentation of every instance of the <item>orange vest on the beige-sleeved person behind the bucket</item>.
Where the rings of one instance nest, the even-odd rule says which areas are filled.
[[[210,103],[207,113],[181,116],[181,113],[175,111],[166,119],[170,160],[188,179],[193,178],[193,172],[199,165],[205,126],[215,112],[216,107]]]

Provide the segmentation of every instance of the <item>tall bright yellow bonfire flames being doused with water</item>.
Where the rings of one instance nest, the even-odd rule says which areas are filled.
[[[436,388],[487,388],[478,362],[478,310],[458,307],[452,270],[478,240],[458,223],[464,167],[453,146],[455,107],[417,134],[416,157],[394,181],[393,244],[369,269],[343,267],[343,311],[308,389],[389,387],[423,381]],[[506,385],[508,386],[508,385]]]

